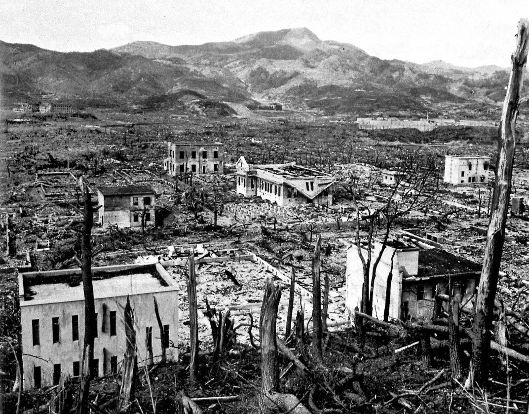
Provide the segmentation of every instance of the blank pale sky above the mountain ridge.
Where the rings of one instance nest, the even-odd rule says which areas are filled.
[[[12,0],[0,8],[0,40],[94,51],[307,27],[381,59],[508,67],[520,17],[529,17],[526,0]]]

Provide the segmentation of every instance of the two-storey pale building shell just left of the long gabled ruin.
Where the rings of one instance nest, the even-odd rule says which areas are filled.
[[[224,144],[221,142],[169,142],[167,155],[163,168],[171,176],[224,172]]]

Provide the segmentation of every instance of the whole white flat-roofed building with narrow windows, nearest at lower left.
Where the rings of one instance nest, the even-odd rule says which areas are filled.
[[[178,361],[178,285],[157,264],[92,268],[94,275],[96,377],[116,374],[126,347],[124,307],[134,312],[138,364]],[[83,361],[85,301],[80,269],[19,273],[23,379],[26,390],[78,376]],[[163,334],[154,313],[158,302]]]

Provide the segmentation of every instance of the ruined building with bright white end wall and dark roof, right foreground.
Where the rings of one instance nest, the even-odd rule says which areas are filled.
[[[378,257],[381,247],[381,243],[375,243],[372,257]],[[367,257],[367,246],[360,250]],[[452,293],[463,303],[473,295],[480,273],[481,265],[464,257],[441,249],[419,249],[390,241],[377,266],[372,315],[383,319],[387,300],[390,319],[432,319],[436,288],[439,293],[448,294],[451,279]],[[363,284],[362,262],[355,244],[347,250],[345,274],[345,306],[354,315],[355,307],[361,309]]]

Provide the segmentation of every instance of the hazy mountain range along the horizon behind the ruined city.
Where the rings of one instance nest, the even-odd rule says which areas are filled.
[[[52,96],[141,104],[192,90],[225,102],[281,102],[326,113],[424,113],[454,105],[497,107],[508,81],[508,71],[497,66],[379,59],[352,44],[322,41],[305,27],[230,42],[139,41],[94,52],[0,41],[0,56],[2,93],[12,102]]]

